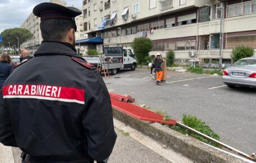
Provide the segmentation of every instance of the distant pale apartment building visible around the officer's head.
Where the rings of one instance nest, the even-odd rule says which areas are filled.
[[[51,0],[50,2],[67,6],[67,3],[65,1]],[[82,11],[81,7],[77,7],[77,8]],[[34,35],[31,39],[21,44],[20,46],[21,48],[29,49],[30,53],[34,53],[43,40],[39,25],[40,25],[40,17],[36,17],[34,16],[33,13],[30,13],[27,19],[20,26],[20,28],[28,29]],[[83,14],[76,17],[76,25],[77,25],[76,40],[87,38],[87,35],[83,31]],[[76,46],[76,48],[79,49],[80,53],[85,53],[85,47]]]

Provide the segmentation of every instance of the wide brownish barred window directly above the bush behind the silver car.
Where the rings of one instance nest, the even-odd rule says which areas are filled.
[[[256,48],[256,35],[250,36],[237,36],[227,38],[227,48],[232,49],[237,46],[248,46],[251,48]]]

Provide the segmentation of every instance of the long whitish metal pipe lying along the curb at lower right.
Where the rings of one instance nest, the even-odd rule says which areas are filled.
[[[205,138],[205,139],[208,139],[208,140],[211,141],[211,142],[214,142],[214,143],[216,143],[216,144],[219,144],[220,146],[222,146],[222,147],[224,147],[224,148],[227,148],[228,150],[230,150],[230,151],[232,151],[232,152],[235,152],[235,153],[237,153],[237,154],[240,155],[240,156],[246,157],[247,159],[249,159],[249,160],[251,160],[251,161],[256,161],[256,159],[253,158],[253,157],[251,157],[250,155],[248,155],[248,154],[246,154],[246,153],[244,153],[244,152],[241,152],[241,151],[239,151],[239,150],[236,150],[235,148],[230,147],[230,146],[228,146],[227,144],[224,144],[224,143],[222,143],[222,142],[220,142],[220,141],[217,141],[217,140],[215,140],[214,138],[209,137],[208,135],[205,135],[205,134],[203,134],[203,133],[200,133],[200,132],[198,132],[197,130],[190,128],[189,126],[184,125],[184,124],[183,124],[182,122],[180,122],[180,121],[176,121],[176,124],[177,124],[178,126],[182,127],[182,128],[188,129],[189,131],[191,131],[191,132],[193,132],[193,133],[195,133],[195,134],[200,135],[201,137],[203,137],[203,138]]]

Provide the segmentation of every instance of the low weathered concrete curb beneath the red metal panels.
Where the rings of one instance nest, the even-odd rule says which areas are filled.
[[[140,121],[116,109],[113,116],[196,162],[245,162],[161,124]]]

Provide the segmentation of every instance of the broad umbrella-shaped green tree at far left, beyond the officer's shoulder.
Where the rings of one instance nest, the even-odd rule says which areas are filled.
[[[19,44],[22,44],[22,43],[26,42],[28,39],[32,38],[33,34],[30,33],[30,31],[27,29],[12,28],[12,29],[6,29],[6,30],[2,31],[1,36],[2,36],[2,40],[3,40],[2,46],[8,48],[9,47],[8,42],[10,42],[11,47],[13,45],[18,47],[17,38],[19,38]]]

